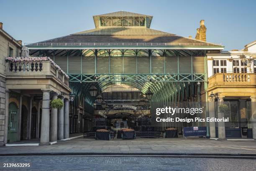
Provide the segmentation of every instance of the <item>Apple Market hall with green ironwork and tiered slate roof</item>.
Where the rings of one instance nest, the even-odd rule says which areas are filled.
[[[204,20],[193,39],[151,29],[152,18],[125,11],[95,15],[95,29],[26,45],[30,56],[49,56],[69,75],[76,95],[70,133],[90,130],[100,117],[116,127],[148,116],[154,129],[175,127],[180,133],[184,126],[206,124],[156,123],[151,114],[166,105],[207,101],[206,54],[223,46],[206,42]],[[152,99],[145,99],[147,92]]]

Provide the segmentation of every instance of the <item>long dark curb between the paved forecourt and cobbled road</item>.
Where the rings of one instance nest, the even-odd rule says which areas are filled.
[[[102,157],[179,157],[179,158],[241,158],[256,159],[256,154],[240,153],[5,153],[0,156],[102,156]]]

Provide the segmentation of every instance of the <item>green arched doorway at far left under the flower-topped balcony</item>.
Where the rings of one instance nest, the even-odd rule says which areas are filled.
[[[8,136],[7,143],[17,141],[18,107],[15,103],[9,104]]]

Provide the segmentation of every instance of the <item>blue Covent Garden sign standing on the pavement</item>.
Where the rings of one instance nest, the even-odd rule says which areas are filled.
[[[184,127],[184,137],[206,136],[206,127]]]

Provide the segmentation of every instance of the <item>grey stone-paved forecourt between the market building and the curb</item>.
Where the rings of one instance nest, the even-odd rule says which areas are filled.
[[[204,155],[254,156],[256,140],[211,140],[205,138],[136,138],[95,140],[74,138],[53,145],[3,146],[0,156],[15,155]]]

